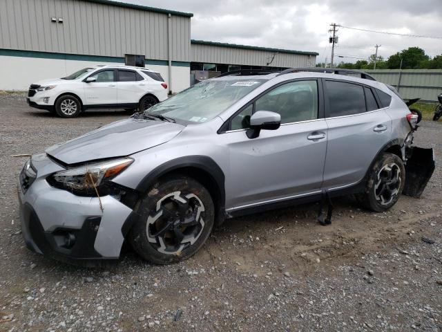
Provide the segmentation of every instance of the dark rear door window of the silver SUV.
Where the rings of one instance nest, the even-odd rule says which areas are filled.
[[[325,86],[329,98],[329,118],[366,111],[363,86],[337,81],[325,81]]]

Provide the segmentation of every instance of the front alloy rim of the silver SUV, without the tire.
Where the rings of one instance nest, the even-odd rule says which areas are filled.
[[[162,197],[148,216],[148,241],[163,254],[176,255],[192,246],[204,228],[204,205],[195,194],[173,192]]]

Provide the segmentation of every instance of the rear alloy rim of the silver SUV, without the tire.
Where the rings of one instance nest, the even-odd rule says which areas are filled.
[[[398,195],[401,187],[401,169],[391,163],[384,165],[378,172],[377,182],[374,185],[376,201],[382,205],[390,204]]]

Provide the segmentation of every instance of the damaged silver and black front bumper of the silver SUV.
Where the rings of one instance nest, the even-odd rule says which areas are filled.
[[[47,160],[46,163],[52,163]],[[40,162],[41,164],[41,162]],[[76,196],[51,187],[45,172],[61,168],[44,165],[28,188],[19,179],[21,230],[26,246],[61,261],[117,259],[124,236],[122,226],[133,210],[113,196]],[[55,166],[54,166],[55,165]]]

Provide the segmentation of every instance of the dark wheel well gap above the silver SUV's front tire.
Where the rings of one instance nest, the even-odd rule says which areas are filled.
[[[215,205],[215,225],[219,225],[224,221],[224,199],[221,194],[221,188],[209,172],[198,167],[180,167],[162,174],[160,180],[166,180],[173,175],[188,176],[204,185],[206,190],[209,190],[213,205]]]

